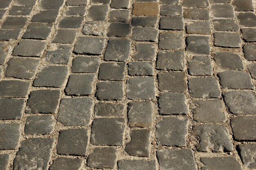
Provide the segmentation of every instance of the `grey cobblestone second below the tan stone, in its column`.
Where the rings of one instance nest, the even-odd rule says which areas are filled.
[[[132,40],[157,42],[158,29],[154,27],[135,27],[132,30]]]

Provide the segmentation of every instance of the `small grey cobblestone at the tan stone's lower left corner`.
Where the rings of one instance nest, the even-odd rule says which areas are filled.
[[[109,13],[110,22],[128,22],[130,13],[128,9],[125,10],[113,10]]]

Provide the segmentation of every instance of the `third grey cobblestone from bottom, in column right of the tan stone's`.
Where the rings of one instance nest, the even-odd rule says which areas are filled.
[[[184,93],[164,93],[158,99],[159,114],[187,115],[189,114]]]

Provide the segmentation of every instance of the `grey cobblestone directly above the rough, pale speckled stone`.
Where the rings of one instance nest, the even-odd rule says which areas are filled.
[[[92,5],[90,7],[88,18],[91,20],[106,20],[108,15],[108,5]]]

